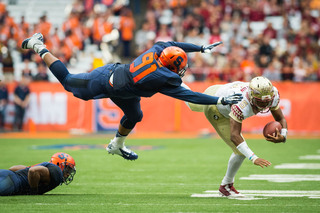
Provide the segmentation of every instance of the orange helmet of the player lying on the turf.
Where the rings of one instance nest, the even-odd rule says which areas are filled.
[[[52,155],[49,163],[60,167],[63,173],[63,182],[66,185],[73,181],[73,177],[76,174],[76,162],[71,155],[63,152],[57,152]]]

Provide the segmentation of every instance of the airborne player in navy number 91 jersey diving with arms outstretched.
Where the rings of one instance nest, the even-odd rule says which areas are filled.
[[[124,145],[126,136],[142,119],[141,97],[162,93],[197,104],[232,104],[242,99],[240,94],[217,97],[197,93],[181,86],[181,77],[187,69],[185,52],[210,53],[221,42],[198,46],[179,42],[158,42],[131,64],[107,64],[90,73],[70,74],[64,64],[53,56],[43,44],[40,33],[25,39],[23,49],[33,49],[47,64],[64,88],[83,100],[110,98],[124,112],[116,136],[107,146],[109,154],[128,160],[138,155]]]

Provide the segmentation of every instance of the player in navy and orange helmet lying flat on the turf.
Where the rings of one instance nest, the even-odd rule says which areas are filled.
[[[62,183],[68,185],[76,174],[75,165],[70,155],[59,152],[50,162],[0,169],[0,196],[42,195]]]

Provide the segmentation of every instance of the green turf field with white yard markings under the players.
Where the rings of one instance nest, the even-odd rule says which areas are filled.
[[[77,164],[77,174],[70,185],[59,186],[41,196],[0,197],[0,212],[320,211],[320,160],[316,157],[320,155],[319,139],[289,139],[286,144],[247,140],[259,157],[273,165],[261,169],[245,160],[235,186],[249,195],[248,199],[240,200],[216,196],[231,154],[231,149],[220,139],[128,139],[127,144],[134,146],[139,154],[139,159],[132,162],[108,155],[102,148],[105,142],[102,138],[88,137],[0,139],[1,169],[48,161],[53,153],[60,151],[71,154]],[[49,147],[61,144],[98,146],[91,147],[93,149],[76,146],[67,150]],[[150,150],[150,146],[153,149]],[[314,157],[300,157],[307,155]],[[312,163],[314,168],[275,168],[293,163]],[[245,179],[254,174],[260,177],[300,174],[318,179],[293,182]],[[213,192],[205,192],[208,190]],[[250,192],[260,194],[250,195]],[[213,197],[192,197],[196,194]]]

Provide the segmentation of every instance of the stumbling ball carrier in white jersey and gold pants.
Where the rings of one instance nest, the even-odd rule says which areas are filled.
[[[183,85],[188,88],[186,85]],[[282,125],[276,135],[269,135],[266,139],[273,143],[286,141],[287,122],[279,107],[279,93],[276,87],[265,77],[255,77],[249,82],[233,82],[225,85],[210,86],[204,92],[208,95],[228,96],[242,93],[243,100],[230,105],[197,105],[187,103],[192,111],[204,112],[208,121],[215,128],[219,136],[228,144],[233,153],[228,162],[226,175],[220,185],[222,196],[242,196],[233,186],[234,178],[243,160],[247,157],[257,166],[267,167],[271,163],[259,158],[248,147],[241,134],[242,121],[259,112],[271,111],[274,119]]]

